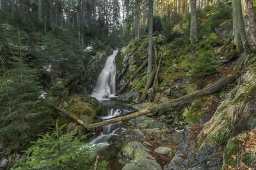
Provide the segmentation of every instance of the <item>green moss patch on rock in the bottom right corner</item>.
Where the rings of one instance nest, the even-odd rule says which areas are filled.
[[[237,155],[239,153],[239,142],[237,139],[234,139],[227,148],[225,148],[224,158],[225,158],[225,167],[236,166],[237,160],[232,157],[232,155]]]

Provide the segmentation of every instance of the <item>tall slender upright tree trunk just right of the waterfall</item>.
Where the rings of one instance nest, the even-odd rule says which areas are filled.
[[[153,40],[153,0],[149,0],[148,8],[148,71],[147,78],[152,71],[152,42]]]

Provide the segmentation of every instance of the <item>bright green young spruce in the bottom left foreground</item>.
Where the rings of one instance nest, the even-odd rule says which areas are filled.
[[[53,129],[52,134],[40,135],[34,145],[25,151],[26,162],[16,169],[93,169],[92,153],[96,146],[83,143],[85,139],[75,137],[75,133],[62,134],[65,125]],[[99,169],[107,162],[102,161]]]

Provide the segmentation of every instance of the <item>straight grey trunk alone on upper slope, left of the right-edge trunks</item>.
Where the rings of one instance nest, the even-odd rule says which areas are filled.
[[[197,24],[196,24],[196,0],[190,1],[190,15],[191,15],[191,23],[190,23],[190,34],[189,40],[191,44],[195,43],[198,40],[198,32],[197,32]]]

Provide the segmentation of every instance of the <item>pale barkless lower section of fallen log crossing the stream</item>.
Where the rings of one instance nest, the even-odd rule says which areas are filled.
[[[122,116],[122,117],[111,118],[109,120],[104,120],[103,122],[99,122],[99,123],[96,123],[96,124],[90,124],[90,125],[87,126],[87,128],[92,129],[92,128],[99,127],[99,126],[114,124],[116,122],[120,122],[120,121],[123,121],[123,120],[129,120],[131,118],[136,118],[136,117],[141,117],[143,115],[148,115],[149,113],[152,113],[152,111],[150,111],[150,110],[141,110],[141,111],[137,111],[135,113],[131,113],[129,115]]]

